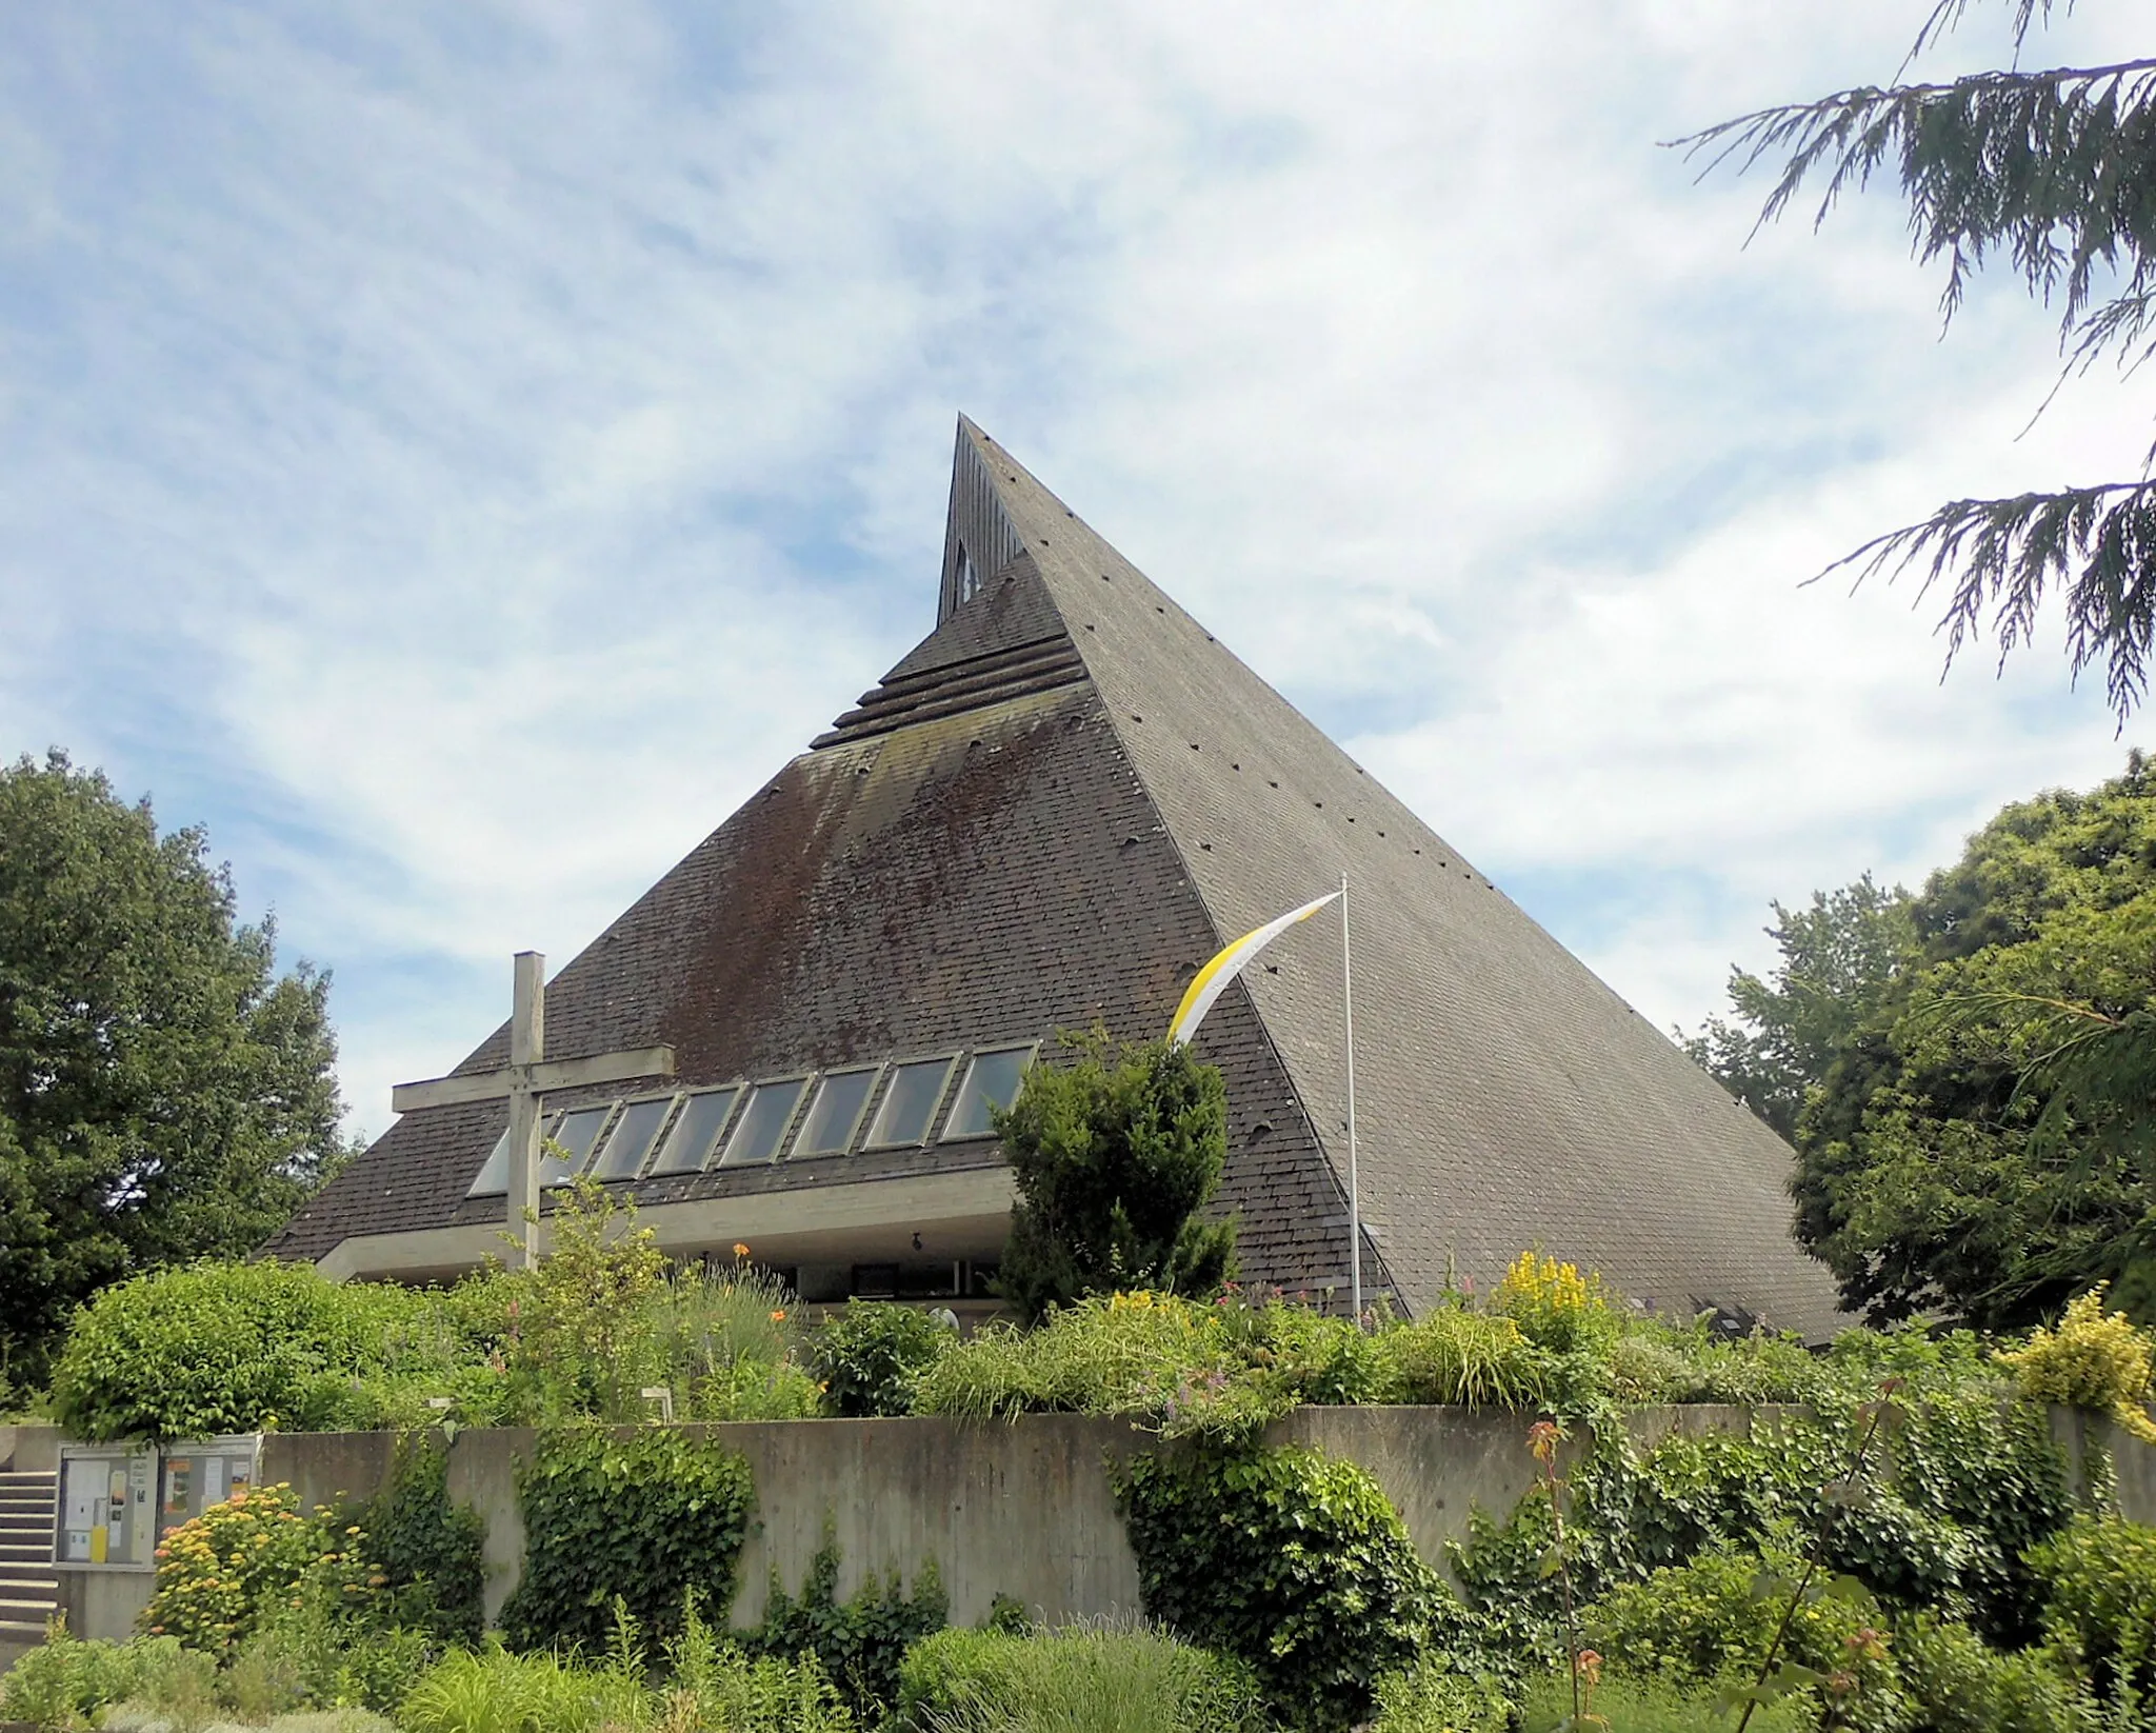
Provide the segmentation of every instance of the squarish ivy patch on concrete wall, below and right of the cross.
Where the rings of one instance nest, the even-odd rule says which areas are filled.
[[[755,1507],[748,1464],[679,1431],[541,1436],[517,1470],[524,1576],[502,1608],[515,1649],[597,1649],[619,1599],[671,1636],[690,1593],[731,1606]]]

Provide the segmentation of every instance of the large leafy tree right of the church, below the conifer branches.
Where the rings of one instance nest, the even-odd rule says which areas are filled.
[[[1871,897],[1861,882],[1813,910]],[[1846,985],[1807,1060],[1798,1239],[1882,1321],[2022,1328],[2102,1280],[2156,1317],[2156,770],[2134,752],[2091,793],[2007,806],[1906,923],[1887,979]],[[1781,935],[1785,983],[1815,933]],[[1757,1050],[1800,1045],[1805,1011],[1740,1000],[1749,1026],[1710,1069],[1742,1093]]]

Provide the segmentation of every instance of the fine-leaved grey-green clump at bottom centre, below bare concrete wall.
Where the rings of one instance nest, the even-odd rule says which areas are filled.
[[[949,1630],[914,1645],[897,1724],[934,1733],[1261,1733],[1250,1673],[1149,1630]]]

